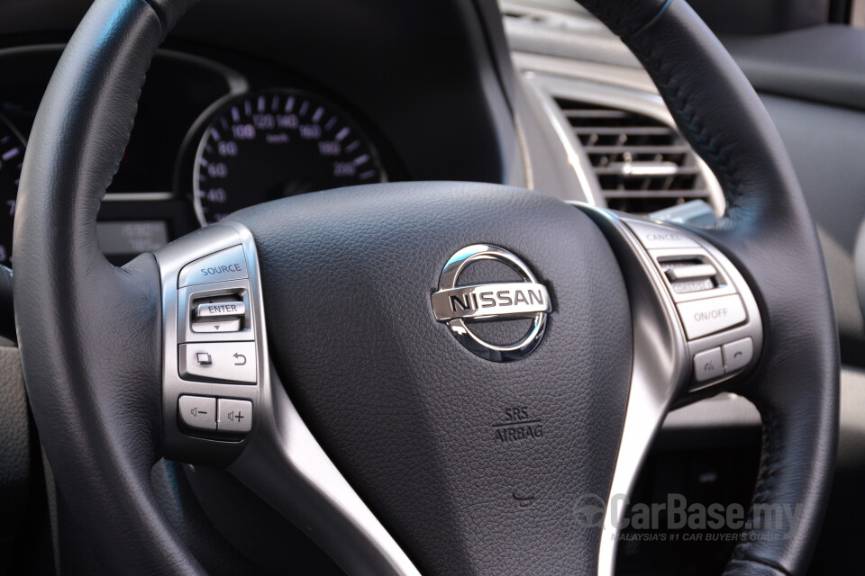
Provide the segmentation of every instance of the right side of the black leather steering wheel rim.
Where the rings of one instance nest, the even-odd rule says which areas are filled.
[[[763,361],[741,389],[763,420],[754,502],[800,505],[801,518],[746,535],[729,573],[803,573],[831,488],[838,427],[838,332],[813,221],[760,99],[686,3],[673,0],[623,40],[722,184],[726,216],[702,233],[740,267],[763,314]]]

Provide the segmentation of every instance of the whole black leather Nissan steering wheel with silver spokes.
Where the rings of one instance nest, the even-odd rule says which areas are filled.
[[[752,509],[796,510],[746,526],[727,572],[805,572],[837,435],[823,258],[777,131],[686,3],[582,4],[715,172],[713,228],[493,184],[377,184],[240,211],[117,268],[96,212],[190,4],[96,0],[19,192],[27,391],[110,572],[203,572],[150,484],[167,457],[226,467],[351,574],[610,574],[616,498],[651,437],[722,391],[763,421]]]

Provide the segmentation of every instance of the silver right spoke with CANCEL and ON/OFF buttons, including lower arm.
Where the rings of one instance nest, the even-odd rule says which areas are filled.
[[[651,441],[669,410],[724,392],[759,361],[760,310],[712,243],[667,223],[574,202],[604,230],[631,298],[633,372],[606,502],[598,574],[614,573],[618,529]]]

